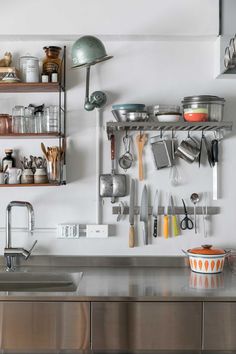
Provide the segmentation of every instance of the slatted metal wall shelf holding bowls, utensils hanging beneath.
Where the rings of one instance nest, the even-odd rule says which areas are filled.
[[[118,131],[231,131],[233,122],[107,122],[108,137]]]

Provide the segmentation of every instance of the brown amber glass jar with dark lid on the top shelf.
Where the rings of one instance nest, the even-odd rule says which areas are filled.
[[[43,59],[43,73],[48,74],[51,78],[52,73],[60,74],[61,59],[59,58],[61,48],[50,46],[43,47],[46,57]]]

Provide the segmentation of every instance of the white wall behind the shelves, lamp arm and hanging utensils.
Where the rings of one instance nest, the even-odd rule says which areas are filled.
[[[79,14],[78,14],[79,17]],[[46,44],[67,45],[67,176],[68,184],[52,188],[1,188],[0,189],[0,227],[5,224],[5,208],[9,201],[28,200],[36,213],[37,228],[55,228],[58,223],[79,222],[93,223],[95,221],[95,112],[85,112],[83,109],[85,72],[70,69],[70,47],[73,42],[55,41],[2,41],[1,54],[12,51],[14,58],[30,52],[43,56],[42,47]],[[104,41],[108,54],[114,55],[112,60],[92,68],[91,91],[105,90],[108,94],[108,104],[103,114],[103,125],[113,120],[111,105],[124,102],[141,102],[146,105],[157,103],[180,104],[181,99],[193,94],[213,94],[226,98],[225,119],[234,121],[236,110],[235,80],[214,79],[214,40],[205,41]],[[15,104],[54,103],[55,94],[2,94],[0,97],[1,112],[10,111]],[[150,135],[154,135],[152,133]],[[135,134],[132,134],[133,136]],[[149,136],[150,136],[149,135]],[[179,139],[186,136],[178,133]],[[210,133],[212,137],[212,134]],[[122,135],[121,135],[122,137]],[[47,145],[52,143],[46,142]],[[25,154],[40,153],[40,140],[1,140],[0,156],[5,147],[14,147]],[[235,230],[235,198],[234,174],[236,172],[234,150],[236,139],[234,132],[228,134],[221,144],[220,180],[222,198],[212,205],[221,207],[220,215],[212,217],[208,222],[211,237],[207,240],[200,234],[183,232],[177,238],[164,240],[163,237],[152,238],[152,244],[143,246],[141,225],[137,225],[138,246],[128,248],[128,218],[119,224],[112,215],[110,200],[104,200],[103,222],[115,225],[113,235],[108,239],[95,240],[81,238],[64,241],[56,239],[55,232],[37,233],[39,243],[35,253],[38,254],[69,254],[69,255],[179,255],[182,248],[189,248],[203,243],[213,243],[224,247],[236,247]],[[121,152],[121,150],[120,150]],[[119,152],[119,153],[120,153]],[[110,171],[109,142],[103,133],[103,172]],[[134,147],[135,160],[137,159]],[[171,191],[177,204],[184,197],[189,204],[192,192],[212,191],[212,170],[207,166],[187,165],[179,162],[182,184],[171,187],[169,170],[156,171],[153,165],[149,145],[145,147],[145,181],[139,184],[138,201],[144,183],[148,184],[150,205],[155,188],[162,192]],[[122,173],[122,170],[119,170]],[[137,178],[137,160],[127,175]],[[127,202],[129,197],[125,198]],[[14,226],[24,226],[26,215],[24,211],[14,211]],[[138,221],[138,220],[137,220]],[[3,253],[4,233],[0,239],[0,252]],[[31,240],[24,234],[14,234],[16,245],[29,245]]]

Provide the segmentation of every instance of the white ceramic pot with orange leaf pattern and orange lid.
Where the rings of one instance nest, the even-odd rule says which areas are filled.
[[[189,258],[191,270],[204,274],[221,273],[225,257],[230,253],[223,249],[213,248],[211,245],[202,245],[183,252]]]

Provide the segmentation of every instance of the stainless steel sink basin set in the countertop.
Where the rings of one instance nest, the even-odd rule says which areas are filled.
[[[82,272],[0,272],[0,291],[74,292],[82,275]]]

